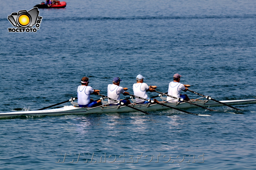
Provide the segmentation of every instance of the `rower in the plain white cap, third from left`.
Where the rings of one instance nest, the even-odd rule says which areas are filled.
[[[137,83],[133,84],[133,93],[135,96],[139,96],[142,98],[148,98],[148,95],[146,94],[147,91],[153,92],[157,88],[157,86],[148,86],[146,83],[143,83],[143,80],[145,77],[142,75],[137,75],[136,81]],[[148,98],[149,99],[149,98]],[[158,102],[156,99],[152,99],[155,102]],[[136,102],[143,101],[142,99],[136,98]],[[149,103],[148,101],[140,102],[139,104],[146,104]]]

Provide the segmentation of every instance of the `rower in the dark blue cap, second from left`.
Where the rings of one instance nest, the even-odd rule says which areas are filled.
[[[129,95],[129,93],[126,91],[126,90],[128,90],[127,87],[123,88],[123,87],[119,86],[120,81],[122,81],[122,79],[120,79],[119,77],[115,77],[115,78],[113,78],[113,81],[112,81],[113,84],[108,85],[108,97],[109,98],[120,101],[121,94],[123,94],[124,96]],[[108,102],[111,103],[110,106],[119,105],[117,102],[112,103],[113,101],[109,100],[109,99],[108,99]],[[130,104],[130,101],[128,99],[121,100],[121,102],[123,102],[125,104]]]

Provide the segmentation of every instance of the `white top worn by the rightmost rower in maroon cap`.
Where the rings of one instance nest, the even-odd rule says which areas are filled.
[[[171,83],[169,83],[168,95],[171,95],[174,97],[180,97],[180,92],[182,90],[185,90],[185,86],[183,84],[172,81]],[[168,102],[176,103],[178,101],[177,99],[174,99],[174,100],[172,100],[172,99],[174,99],[174,98],[167,96]],[[169,100],[171,100],[171,101],[169,101]]]

